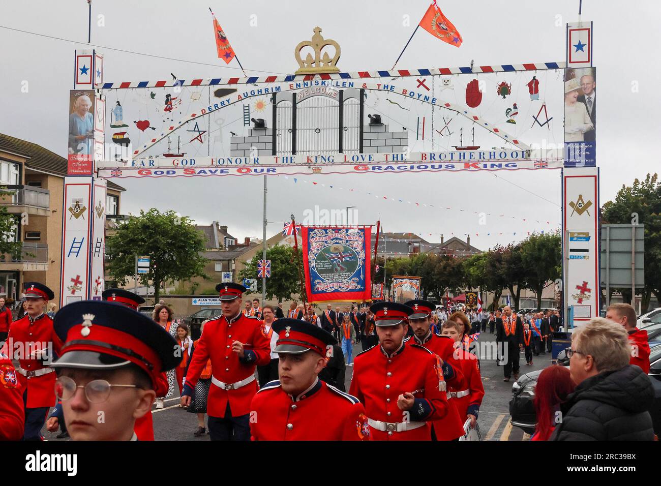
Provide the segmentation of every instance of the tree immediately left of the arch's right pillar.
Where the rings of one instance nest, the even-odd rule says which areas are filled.
[[[561,273],[563,261],[559,231],[530,235],[521,243],[521,257],[527,274],[527,288],[537,294],[537,309],[541,309],[541,294],[544,288],[549,280],[553,283]]]

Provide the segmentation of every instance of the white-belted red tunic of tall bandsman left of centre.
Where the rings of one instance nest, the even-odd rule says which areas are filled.
[[[233,341],[241,341],[245,357],[232,351]],[[219,382],[233,384],[254,375],[257,365],[271,361],[271,346],[262,332],[262,321],[240,312],[228,322],[224,316],[211,319],[204,325],[204,333],[195,346],[188,365],[183,394],[192,396],[200,374],[211,360],[213,378]],[[207,401],[207,412],[211,417],[225,417],[229,400],[232,417],[250,412],[250,403],[257,392],[256,380],[237,389],[226,390],[212,382]]]

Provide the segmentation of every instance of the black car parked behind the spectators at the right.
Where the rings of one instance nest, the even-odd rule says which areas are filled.
[[[650,339],[650,372],[648,376],[654,386],[654,403],[650,408],[650,415],[652,415],[654,433],[659,435],[661,434],[661,341],[657,341],[657,339]],[[564,350],[558,355],[558,364],[569,366],[569,360]],[[512,385],[510,422],[531,435],[535,432],[535,425],[537,425],[533,399],[535,398],[537,377],[541,372],[542,370],[537,370],[526,373]]]

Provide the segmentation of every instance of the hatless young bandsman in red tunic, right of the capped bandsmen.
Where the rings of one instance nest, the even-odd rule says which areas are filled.
[[[461,423],[471,419],[471,427],[475,428],[477,415],[482,405],[482,399],[485,396],[485,387],[482,384],[482,376],[477,368],[477,358],[475,354],[465,349],[459,342],[461,335],[461,326],[456,321],[445,321],[442,325],[442,333],[455,342],[455,355],[461,363],[463,371],[463,385],[456,387],[449,384],[449,392],[452,396],[451,403],[457,407]]]

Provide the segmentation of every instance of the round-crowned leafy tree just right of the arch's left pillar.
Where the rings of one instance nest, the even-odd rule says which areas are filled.
[[[154,299],[159,302],[166,280],[188,280],[204,274],[207,259],[204,237],[188,216],[174,211],[165,213],[151,208],[131,216],[114,235],[106,239],[108,272],[118,283],[126,285],[127,277],[136,271],[136,255],[150,258],[149,273],[138,276],[142,285],[154,286]]]

